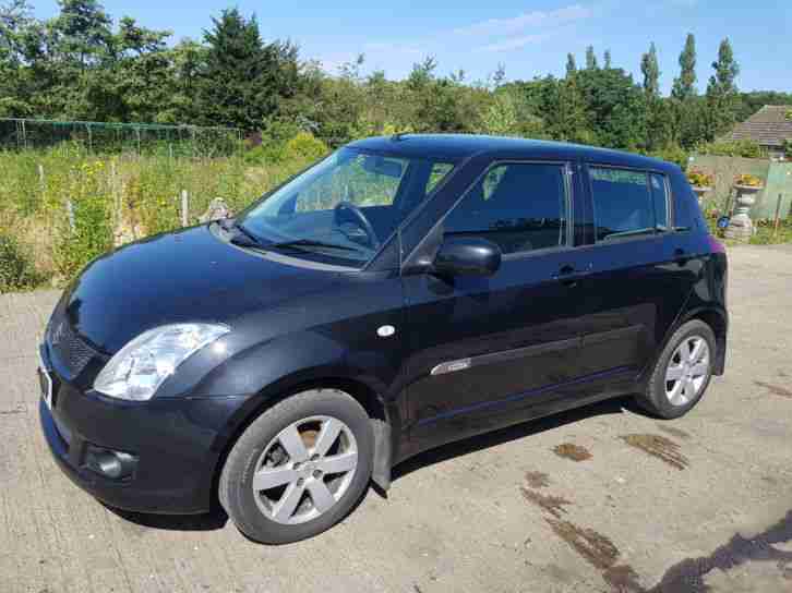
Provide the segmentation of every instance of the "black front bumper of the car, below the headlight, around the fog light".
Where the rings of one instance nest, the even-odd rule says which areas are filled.
[[[77,486],[131,511],[209,510],[217,462],[249,398],[115,401],[48,372],[57,387],[51,411],[39,402],[41,429],[58,465]],[[89,469],[91,446],[136,456],[134,473],[111,480]]]

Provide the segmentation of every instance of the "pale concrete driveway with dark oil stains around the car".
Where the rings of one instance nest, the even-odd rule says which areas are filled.
[[[57,295],[0,296],[0,591],[792,592],[792,249],[730,258],[728,374],[687,417],[620,400],[444,447],[281,547],[73,486],[37,417]]]

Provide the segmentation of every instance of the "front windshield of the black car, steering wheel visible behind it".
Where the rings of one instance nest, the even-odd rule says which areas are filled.
[[[453,168],[341,148],[264,196],[237,227],[263,250],[362,267]]]

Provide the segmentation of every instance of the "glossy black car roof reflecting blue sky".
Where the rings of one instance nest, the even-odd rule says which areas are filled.
[[[352,142],[350,148],[371,150],[405,157],[432,157],[437,159],[463,160],[472,156],[492,158],[536,158],[575,160],[583,159],[602,165],[640,167],[668,171],[676,166],[670,162],[625,153],[598,148],[567,142],[526,140],[503,136],[472,134],[399,134],[376,136]]]

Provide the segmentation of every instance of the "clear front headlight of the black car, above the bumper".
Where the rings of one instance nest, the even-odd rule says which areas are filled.
[[[144,331],[110,359],[94,389],[119,399],[149,400],[182,362],[229,331],[211,324],[166,325]]]

